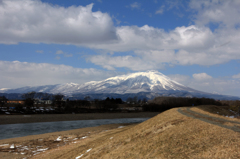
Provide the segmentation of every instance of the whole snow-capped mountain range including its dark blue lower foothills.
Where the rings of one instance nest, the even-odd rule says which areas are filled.
[[[30,91],[57,94],[78,98],[92,96],[93,98],[141,96],[148,99],[155,96],[181,97],[211,97],[222,98],[221,95],[205,93],[186,87],[158,71],[137,72],[111,77],[103,81],[91,81],[85,84],[66,83],[38,87],[22,87],[18,89],[0,89],[0,93],[27,93]],[[226,97],[226,96],[225,96]]]

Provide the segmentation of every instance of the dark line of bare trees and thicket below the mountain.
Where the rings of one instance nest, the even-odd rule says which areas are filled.
[[[51,106],[54,111],[51,113],[86,113],[86,112],[116,112],[121,111],[119,107],[127,105],[127,107],[141,107],[141,111],[163,112],[175,107],[197,106],[197,105],[229,105],[232,110],[240,114],[240,101],[217,101],[210,98],[186,98],[186,97],[155,97],[153,100],[138,99],[138,97],[128,98],[125,102],[121,98],[109,98],[105,100],[91,99],[86,96],[84,99],[69,100],[65,99],[62,94],[47,94],[28,92],[22,95],[25,103],[18,105],[18,111],[31,113],[36,99],[51,100]],[[0,104],[6,104],[7,98],[0,97]],[[36,106],[36,105],[35,105]],[[23,109],[25,107],[25,109]]]

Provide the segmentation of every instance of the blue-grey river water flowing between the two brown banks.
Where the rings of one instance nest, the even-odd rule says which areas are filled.
[[[105,124],[140,123],[149,118],[121,118],[121,119],[98,119],[98,120],[74,120],[25,124],[0,125],[0,140],[7,138],[37,135],[57,131],[95,127]]]

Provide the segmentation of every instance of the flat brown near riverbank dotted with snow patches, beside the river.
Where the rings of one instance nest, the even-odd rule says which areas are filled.
[[[77,143],[85,142],[86,139],[91,139],[98,135],[106,135],[109,132],[120,132],[135,125],[137,124],[108,124],[97,127],[3,139],[0,140],[0,158],[32,158],[45,151],[55,151],[67,145],[71,147]]]

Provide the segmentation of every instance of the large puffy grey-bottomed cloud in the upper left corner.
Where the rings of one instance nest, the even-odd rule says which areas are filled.
[[[111,17],[93,4],[53,6],[40,0],[1,0],[0,43],[107,43],[117,39]]]

